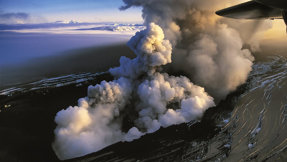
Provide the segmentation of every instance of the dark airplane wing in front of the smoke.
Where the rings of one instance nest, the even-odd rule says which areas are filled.
[[[282,11],[256,1],[249,1],[215,12],[219,16],[236,19],[282,19]]]

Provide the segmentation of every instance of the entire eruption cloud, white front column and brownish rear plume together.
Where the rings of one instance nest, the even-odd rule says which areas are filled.
[[[57,113],[53,149],[60,159],[92,153],[117,141],[132,141],[160,126],[200,118],[214,101],[189,78],[217,100],[225,98],[251,71],[254,58],[243,45],[259,50],[262,32],[258,31],[270,27],[257,23],[256,29],[250,30],[254,25],[247,21],[230,21],[214,14],[238,1],[123,1],[123,10],[143,7],[147,29],[127,43],[137,58],[122,57],[121,66],[110,69],[114,81],[90,86],[78,106]],[[163,40],[163,31],[169,40]],[[189,78],[169,76],[161,70]]]

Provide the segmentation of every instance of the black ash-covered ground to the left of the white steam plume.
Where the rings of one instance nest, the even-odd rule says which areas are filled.
[[[0,95],[0,161],[60,161],[51,147],[56,113],[85,97],[89,85],[112,79],[103,73],[82,86],[72,83]]]

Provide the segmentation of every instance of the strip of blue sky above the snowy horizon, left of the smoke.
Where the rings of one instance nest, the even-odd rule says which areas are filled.
[[[121,0],[0,0],[0,23],[143,21],[142,8],[119,11],[121,5]]]

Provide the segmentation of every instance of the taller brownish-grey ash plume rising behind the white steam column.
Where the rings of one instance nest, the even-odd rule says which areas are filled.
[[[145,23],[163,28],[173,44],[173,62],[164,71],[184,74],[216,101],[243,84],[271,21],[234,20],[215,14],[239,0],[123,0],[121,10],[143,7]],[[232,4],[231,4],[232,3]]]

